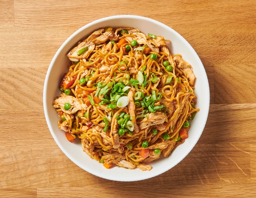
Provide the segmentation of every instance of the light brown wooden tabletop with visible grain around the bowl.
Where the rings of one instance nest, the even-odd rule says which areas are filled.
[[[77,29],[134,14],[179,32],[204,64],[210,110],[192,152],[155,178],[108,181],[70,161],[43,110],[48,66]],[[256,197],[255,0],[0,0],[0,197]]]

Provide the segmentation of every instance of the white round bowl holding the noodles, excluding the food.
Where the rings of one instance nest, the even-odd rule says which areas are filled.
[[[193,67],[196,83],[195,94],[198,97],[196,107],[200,111],[196,114],[195,119],[191,123],[189,130],[189,138],[177,146],[171,153],[169,158],[160,158],[151,163],[153,167],[151,171],[141,171],[140,169],[125,169],[117,166],[106,169],[98,161],[90,159],[90,157],[83,152],[81,142],[76,138],[74,143],[67,141],[64,132],[58,129],[59,117],[52,107],[52,101],[60,94],[58,89],[59,81],[62,75],[67,71],[69,59],[66,54],[77,42],[82,38],[87,37],[94,30],[100,27],[134,27],[141,32],[147,34],[162,35],[166,39],[171,40],[168,47],[172,54],[181,54],[183,59],[190,63]],[[101,178],[114,180],[114,181],[138,181],[154,176],[160,175],[168,171],[173,166],[177,165],[197,143],[200,138],[207,116],[209,112],[209,83],[207,79],[204,66],[201,63],[195,50],[180,34],[175,32],[170,27],[146,17],[133,16],[133,15],[119,15],[106,17],[89,23],[73,33],[58,49],[47,71],[44,83],[44,113],[52,137],[71,161],[77,166],[81,167],[87,172]]]

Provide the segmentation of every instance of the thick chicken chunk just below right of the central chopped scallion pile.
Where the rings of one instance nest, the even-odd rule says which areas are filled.
[[[144,118],[140,122],[140,129],[146,129],[149,126],[162,124],[165,122],[165,120],[166,120],[166,117],[165,117],[164,113],[162,113],[162,112],[150,113],[150,114],[148,114],[148,116],[146,118]]]

